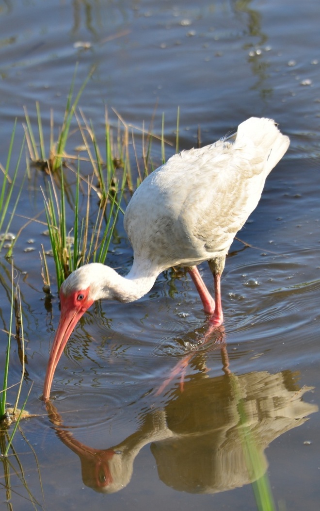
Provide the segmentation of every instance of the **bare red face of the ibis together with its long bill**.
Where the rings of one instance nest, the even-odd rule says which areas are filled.
[[[93,304],[93,301],[89,298],[89,288],[73,291],[67,296],[60,290],[61,314],[46,368],[43,386],[43,399],[45,401],[50,398],[53,377],[64,347],[79,319]]]

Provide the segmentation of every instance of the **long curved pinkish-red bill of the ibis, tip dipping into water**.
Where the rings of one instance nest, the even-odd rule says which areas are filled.
[[[47,401],[50,398],[50,390],[52,386],[53,377],[55,374],[56,367],[63,353],[64,347],[68,342],[68,339],[78,323],[79,319],[85,311],[69,309],[61,311],[61,316],[58,324],[58,330],[55,335],[55,339],[50,352],[48,365],[46,368],[44,386],[43,386],[43,398]]]

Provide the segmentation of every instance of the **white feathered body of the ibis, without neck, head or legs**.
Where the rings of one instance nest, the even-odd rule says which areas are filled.
[[[273,121],[252,118],[240,124],[234,143],[172,156],[128,205],[124,223],[135,259],[160,272],[226,254],[288,144]]]

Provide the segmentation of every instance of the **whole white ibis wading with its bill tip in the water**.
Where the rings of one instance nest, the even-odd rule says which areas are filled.
[[[44,380],[45,400],[70,334],[93,302],[137,300],[171,266],[187,267],[211,326],[223,322],[220,276],[226,254],[288,146],[289,138],[273,120],[251,118],[236,135],[175,154],[144,179],[124,219],[134,252],[128,275],[91,263],[73,271],[60,288],[61,316]],[[196,268],[203,261],[213,274],[215,299]]]

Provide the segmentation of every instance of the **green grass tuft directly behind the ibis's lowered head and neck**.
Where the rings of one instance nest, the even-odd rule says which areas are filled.
[[[120,202],[125,189],[125,173],[118,184],[114,178],[104,187],[99,201],[95,221],[91,222],[92,194],[97,194],[93,185],[94,174],[85,181],[87,185],[85,212],[80,211],[80,166],[78,165],[76,196],[73,225],[68,228],[66,214],[66,185],[61,174],[61,190],[58,193],[55,181],[52,179],[49,193],[44,195],[44,207],[48,232],[51,242],[52,255],[55,261],[57,284],[60,288],[65,278],[76,268],[87,264],[90,260],[104,263],[109,244],[116,225]],[[43,257],[43,274],[48,275],[45,252]],[[44,283],[46,284],[46,277]]]

